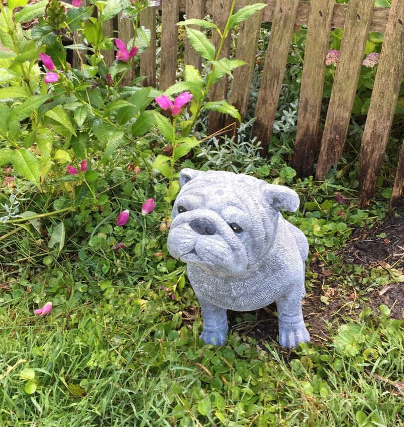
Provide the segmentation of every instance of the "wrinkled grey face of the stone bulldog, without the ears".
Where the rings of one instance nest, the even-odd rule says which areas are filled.
[[[262,183],[209,171],[184,184],[173,208],[171,255],[217,277],[242,277],[258,269],[278,222],[278,211],[264,200]]]

